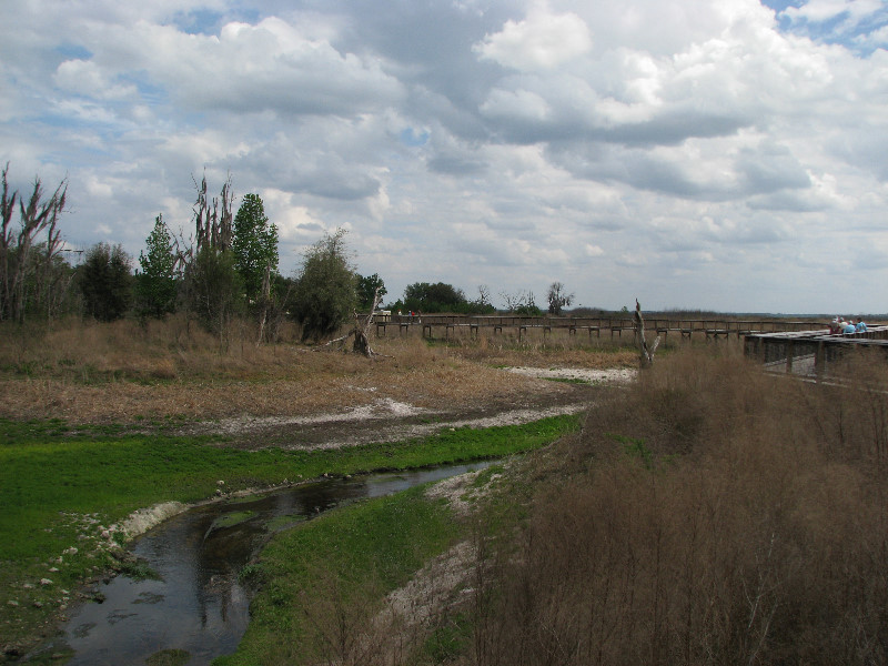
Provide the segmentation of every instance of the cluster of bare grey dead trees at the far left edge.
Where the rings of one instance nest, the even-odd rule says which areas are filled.
[[[62,250],[59,216],[64,210],[68,194],[68,179],[62,180],[48,200],[43,199],[40,179],[34,179],[34,188],[26,204],[18,191],[9,193],[7,173],[2,172],[0,193],[0,319],[22,321],[24,317],[26,282],[29,271],[33,272],[38,299],[51,303],[46,294],[49,287],[53,260]],[[12,229],[12,214],[19,204],[20,226],[18,233]],[[41,234],[46,240],[38,242]],[[48,311],[51,314],[51,311]]]

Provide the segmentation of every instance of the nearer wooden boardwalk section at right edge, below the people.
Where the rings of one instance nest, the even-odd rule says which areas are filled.
[[[866,333],[830,335],[827,329],[804,332],[754,333],[744,341],[744,354],[771,372],[806,377],[835,377],[849,352],[880,350],[888,357],[888,326],[870,326]]]

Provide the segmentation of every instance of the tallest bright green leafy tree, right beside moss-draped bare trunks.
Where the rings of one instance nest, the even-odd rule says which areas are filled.
[[[248,303],[263,302],[278,272],[278,228],[269,223],[259,194],[246,194],[238,209],[231,251]]]

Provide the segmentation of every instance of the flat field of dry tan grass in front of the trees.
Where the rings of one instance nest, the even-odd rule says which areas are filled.
[[[296,344],[295,332],[256,345],[235,324],[212,337],[185,319],[168,322],[64,322],[51,331],[7,326],[0,336],[0,415],[70,423],[129,423],[178,416],[221,418],[336,412],[391,398],[426,408],[518,402],[549,382],[497,371],[546,350],[488,354],[484,341],[430,345],[417,336],[373,341],[381,357]],[[476,349],[478,347],[478,349]],[[536,356],[534,356],[536,355]],[[586,357],[588,356],[588,359]],[[610,355],[610,365],[623,356]],[[605,363],[604,353],[567,350],[566,363]],[[544,363],[545,365],[545,363]]]

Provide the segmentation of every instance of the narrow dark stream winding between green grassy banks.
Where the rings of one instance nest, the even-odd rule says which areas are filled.
[[[238,582],[238,572],[269,532],[347,500],[387,495],[485,466],[325,480],[190,509],[131,546],[160,579],[118,576],[99,585],[104,602],[79,607],[64,625],[63,636],[48,649],[72,649],[69,666],[144,664],[164,649],[186,650],[189,666],[209,664],[234,652],[246,629],[250,594]]]

